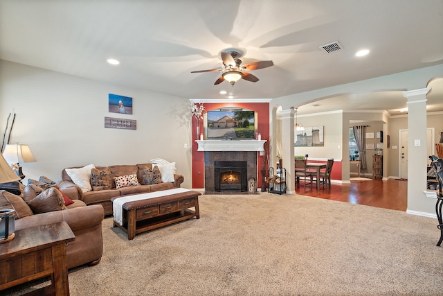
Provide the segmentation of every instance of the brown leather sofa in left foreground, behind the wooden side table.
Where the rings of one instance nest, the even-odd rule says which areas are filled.
[[[101,205],[87,207],[81,200],[76,200],[75,189],[61,189],[60,191],[74,202],[66,206],[67,209],[61,211],[33,214],[33,211],[24,201],[26,198],[32,198],[35,195],[35,192],[29,190],[28,186],[24,189],[23,198],[6,191],[0,191],[0,207],[15,209],[18,216],[15,220],[16,230],[66,221],[75,235],[75,241],[66,245],[68,268],[84,264],[96,265],[100,262],[103,254],[102,220],[105,216],[103,207]],[[10,204],[5,204],[5,201],[10,202]],[[20,215],[23,217],[20,217]]]

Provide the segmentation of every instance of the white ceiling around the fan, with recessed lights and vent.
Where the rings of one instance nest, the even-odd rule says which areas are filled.
[[[221,67],[226,49],[274,66],[234,87],[190,73]],[[443,0],[2,0],[0,59],[183,98],[276,98],[442,64]],[[432,87],[428,111],[442,111],[443,79]],[[316,103],[300,114],[406,108],[402,92]]]

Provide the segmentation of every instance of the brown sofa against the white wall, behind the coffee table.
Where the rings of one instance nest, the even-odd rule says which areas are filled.
[[[75,167],[80,168],[80,167]],[[107,168],[106,166],[96,166],[99,170]],[[152,168],[152,164],[134,164],[134,165],[114,165],[108,166],[111,171],[111,177],[120,177],[124,175],[137,174],[138,181],[141,182],[141,171],[145,168]],[[100,191],[87,191],[83,192],[79,186],[75,185],[71,177],[66,173],[66,168],[62,171],[62,181],[58,182],[60,189],[75,188],[77,193],[75,199],[82,200],[87,205],[101,204],[105,209],[105,215],[111,215],[113,212],[111,198],[118,197],[120,195],[147,193],[172,188],[180,187],[183,183],[184,177],[180,174],[174,174],[174,182],[172,183],[160,183],[150,185],[139,186],[127,186],[120,189],[116,189],[116,184],[112,182],[112,189],[105,189]]]

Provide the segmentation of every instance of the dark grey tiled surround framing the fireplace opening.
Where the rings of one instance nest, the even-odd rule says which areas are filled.
[[[257,152],[256,151],[205,151],[204,165],[205,165],[205,193],[215,193],[215,161],[246,161],[247,175],[249,179],[251,176],[257,180]],[[217,192],[218,193],[218,192]]]

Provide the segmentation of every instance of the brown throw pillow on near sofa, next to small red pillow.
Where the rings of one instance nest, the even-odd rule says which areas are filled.
[[[46,189],[37,195],[28,203],[28,205],[30,209],[33,210],[34,214],[42,214],[50,211],[62,211],[66,209],[62,193],[54,187]]]

